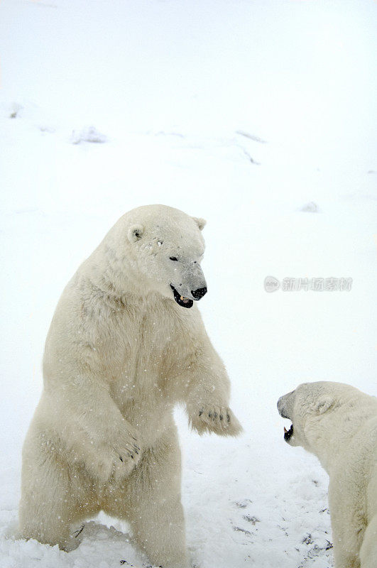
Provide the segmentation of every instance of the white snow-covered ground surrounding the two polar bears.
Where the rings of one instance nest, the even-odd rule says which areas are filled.
[[[207,218],[200,309],[245,429],[201,438],[177,410],[193,566],[332,566],[327,476],[283,442],[275,403],[302,381],[376,394],[376,16],[372,0],[2,0],[1,568],[148,565],[104,516],[70,554],[12,536],[58,297],[148,203]],[[267,275],[353,282],[268,294]]]

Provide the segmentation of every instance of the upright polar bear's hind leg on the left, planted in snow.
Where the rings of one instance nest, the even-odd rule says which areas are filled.
[[[80,539],[71,525],[99,511],[89,491],[89,480],[58,459],[45,440],[30,433],[23,448],[19,523],[21,537],[74,550]]]

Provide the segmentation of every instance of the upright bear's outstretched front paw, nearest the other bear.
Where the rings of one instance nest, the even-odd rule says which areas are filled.
[[[225,406],[200,406],[190,414],[190,425],[198,432],[214,432],[219,436],[237,436],[242,426],[230,408]]]

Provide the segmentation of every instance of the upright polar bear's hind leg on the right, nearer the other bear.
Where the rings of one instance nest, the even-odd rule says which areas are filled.
[[[175,426],[147,450],[106,510],[129,521],[138,546],[163,568],[187,568]]]

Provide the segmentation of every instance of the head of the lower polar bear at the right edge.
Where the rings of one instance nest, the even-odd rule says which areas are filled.
[[[318,454],[326,438],[331,437],[335,428],[342,426],[342,420],[335,418],[334,413],[339,416],[342,409],[346,410],[346,415],[349,414],[352,409],[356,410],[360,397],[365,396],[357,388],[343,383],[302,383],[278,400],[280,416],[292,422],[289,430],[284,428],[285,442]]]

